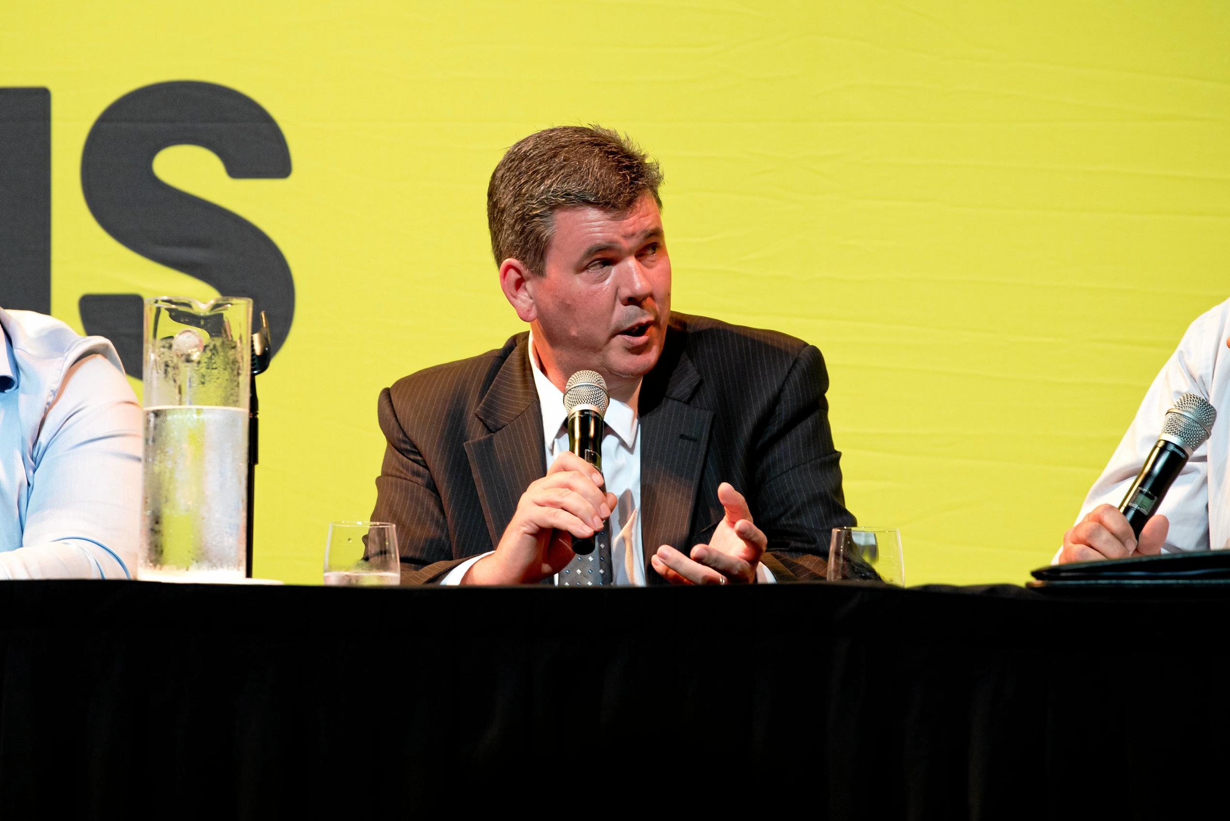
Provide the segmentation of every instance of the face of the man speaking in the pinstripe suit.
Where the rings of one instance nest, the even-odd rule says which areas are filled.
[[[547,374],[567,379],[589,368],[613,394],[626,395],[621,388],[630,390],[657,364],[670,318],[670,258],[653,197],[625,214],[557,210],[542,268],[529,287]]]

